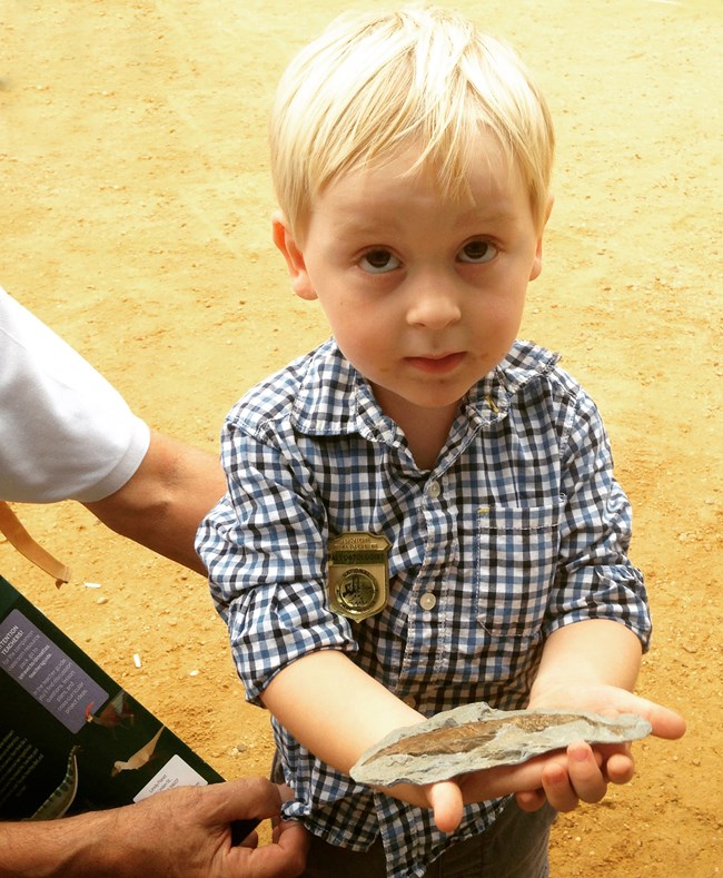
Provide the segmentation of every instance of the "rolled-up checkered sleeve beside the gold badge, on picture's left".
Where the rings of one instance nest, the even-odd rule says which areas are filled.
[[[284,445],[284,431],[251,436],[227,423],[228,493],[197,540],[246,698],[257,704],[297,659],[357,650],[349,622],[328,609],[326,514],[298,453]]]

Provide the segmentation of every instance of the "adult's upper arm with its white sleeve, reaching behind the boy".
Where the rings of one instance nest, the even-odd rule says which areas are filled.
[[[201,517],[220,464],[148,426],[100,373],[0,289],[0,499],[78,500],[118,533],[205,574]]]

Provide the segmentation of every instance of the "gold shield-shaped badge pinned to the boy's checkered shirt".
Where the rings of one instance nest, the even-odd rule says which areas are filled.
[[[341,533],[329,543],[329,606],[360,622],[384,610],[389,594],[386,536],[367,531]]]

